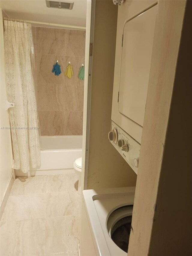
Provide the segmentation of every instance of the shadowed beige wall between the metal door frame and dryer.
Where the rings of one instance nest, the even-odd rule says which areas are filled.
[[[134,186],[137,175],[108,140],[118,8],[96,1],[91,80],[88,189]]]

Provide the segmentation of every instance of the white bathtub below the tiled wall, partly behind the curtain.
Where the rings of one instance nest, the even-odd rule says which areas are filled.
[[[82,136],[40,136],[41,167],[29,176],[74,173],[74,161],[82,157]],[[27,176],[16,170],[16,176]]]

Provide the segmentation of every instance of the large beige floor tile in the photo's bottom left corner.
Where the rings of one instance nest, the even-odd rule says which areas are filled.
[[[1,223],[1,256],[44,255],[45,220]]]

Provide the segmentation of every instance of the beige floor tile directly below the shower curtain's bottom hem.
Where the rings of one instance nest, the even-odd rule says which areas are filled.
[[[10,195],[46,193],[47,176],[17,177]]]

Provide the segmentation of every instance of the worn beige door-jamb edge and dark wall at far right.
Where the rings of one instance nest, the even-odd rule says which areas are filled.
[[[129,256],[192,255],[192,2],[187,2],[186,13],[186,1],[158,2]]]

